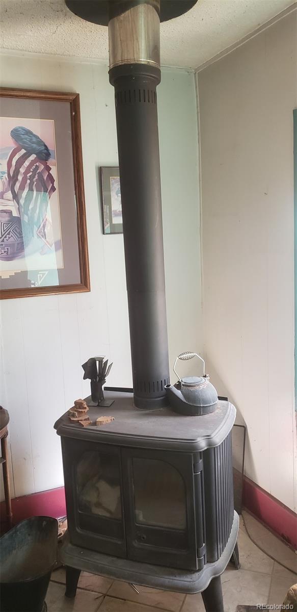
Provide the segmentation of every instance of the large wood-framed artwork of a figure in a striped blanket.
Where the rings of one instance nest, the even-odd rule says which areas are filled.
[[[0,298],[90,291],[79,95],[0,88]]]

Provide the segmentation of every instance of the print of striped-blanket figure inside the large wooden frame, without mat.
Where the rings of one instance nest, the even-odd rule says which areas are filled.
[[[0,117],[0,278],[59,284],[58,191],[54,121]]]

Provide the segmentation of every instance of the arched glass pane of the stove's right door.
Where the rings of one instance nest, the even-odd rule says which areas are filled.
[[[165,461],[133,458],[136,523],[186,529],[185,482]]]

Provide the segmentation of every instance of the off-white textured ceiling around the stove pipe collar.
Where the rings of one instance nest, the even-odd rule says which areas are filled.
[[[199,0],[161,24],[163,65],[196,68],[293,4],[292,0]],[[73,15],[64,0],[0,0],[5,49],[108,59],[108,32]]]

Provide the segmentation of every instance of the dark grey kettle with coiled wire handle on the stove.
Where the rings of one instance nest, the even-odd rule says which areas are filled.
[[[203,376],[186,376],[180,378],[175,366],[178,359],[182,361],[198,357],[204,365]],[[197,353],[181,353],[174,362],[174,373],[177,375],[178,383],[166,385],[166,395],[174,412],[192,416],[210,414],[218,407],[218,394],[215,387],[210,383],[209,376],[205,374],[205,362]]]

